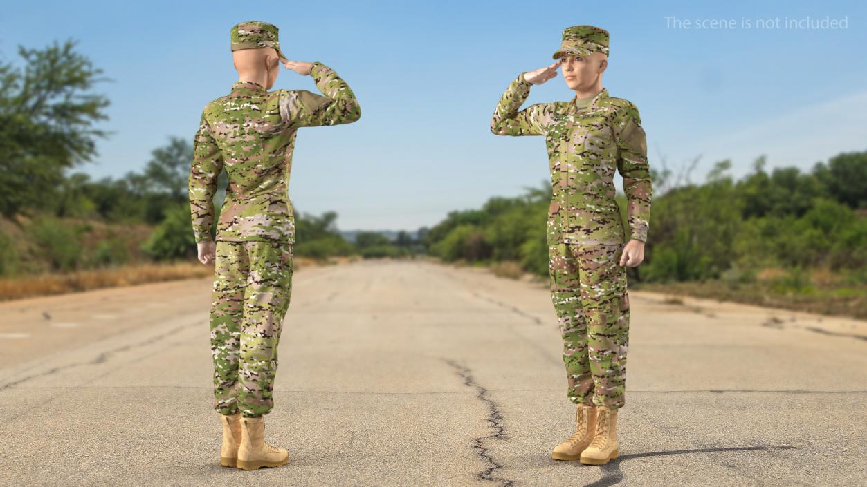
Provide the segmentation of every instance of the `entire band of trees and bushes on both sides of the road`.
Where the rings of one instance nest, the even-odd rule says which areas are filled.
[[[101,70],[74,46],[19,47],[23,67],[0,63],[0,275],[194,259],[186,194],[192,134],[170,137],[141,172],[98,181],[72,172],[94,159],[97,138],[108,137],[93,125],[108,119],[109,104],[91,93]],[[750,282],[764,273],[797,287],[805,270],[826,269],[855,285],[867,283],[867,151],[839,154],[808,173],[768,172],[759,158],[738,181],[727,176],[730,165],[716,163],[701,184],[652,170],[645,263],[629,269],[634,281]],[[226,183],[224,172],[217,212]],[[418,237],[397,234],[396,241],[368,232],[349,242],[335,213],[297,213],[296,254],[427,251],[447,261],[509,262],[544,276],[550,198],[547,184],[494,197],[483,208],[450,213]],[[625,198],[617,200],[625,221]]]

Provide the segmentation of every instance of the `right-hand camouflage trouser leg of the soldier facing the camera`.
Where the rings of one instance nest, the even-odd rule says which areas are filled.
[[[629,348],[629,293],[626,267],[617,261],[623,245],[576,247],[581,301],[587,321],[593,403],[623,407]]]

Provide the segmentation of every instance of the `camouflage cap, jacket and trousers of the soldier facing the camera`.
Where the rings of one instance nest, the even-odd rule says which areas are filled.
[[[608,34],[564,30],[554,54],[608,54]],[[626,269],[617,264],[624,229],[614,172],[623,176],[630,238],[645,241],[651,180],[635,105],[603,90],[592,99],[538,103],[518,111],[530,94],[524,73],[512,80],[491,120],[497,135],[543,135],[553,194],[547,242],[551,299],[564,340],[567,394],[575,403],[623,407],[629,344]]]

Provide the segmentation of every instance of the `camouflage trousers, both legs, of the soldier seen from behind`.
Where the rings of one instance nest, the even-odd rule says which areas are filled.
[[[217,241],[211,305],[214,408],[261,416],[274,406],[277,343],[292,295],[292,244]]]

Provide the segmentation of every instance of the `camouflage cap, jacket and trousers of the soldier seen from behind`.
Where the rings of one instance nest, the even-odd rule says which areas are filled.
[[[271,24],[242,22],[231,39],[232,50],[279,53]],[[197,243],[211,240],[217,176],[225,168],[229,177],[217,223],[211,309],[214,408],[223,414],[260,416],[273,407],[277,343],[291,297],[295,221],[288,188],[297,129],[361,116],[355,94],[335,71],[312,64],[310,75],[325,96],[268,92],[238,81],[205,106],[194,138],[189,192]]]

